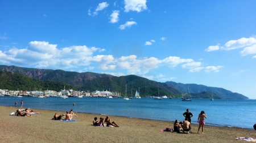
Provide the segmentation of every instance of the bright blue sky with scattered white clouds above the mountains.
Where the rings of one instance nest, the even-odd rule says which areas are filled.
[[[0,64],[137,75],[256,99],[255,15],[255,0],[0,0]]]

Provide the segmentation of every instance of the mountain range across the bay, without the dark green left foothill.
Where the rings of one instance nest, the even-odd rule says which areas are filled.
[[[135,95],[135,91],[139,90],[140,96],[168,96],[168,97],[182,97],[182,94],[187,93],[187,87],[191,92],[193,98],[210,98],[213,92],[213,98],[223,99],[248,99],[239,93],[233,93],[223,88],[213,88],[205,85],[197,84],[181,84],[172,81],[166,83],[159,83],[156,81],[148,80],[143,77],[128,75],[128,76],[112,76],[107,74],[93,73],[93,72],[68,72],[63,70],[44,70],[38,68],[23,68],[16,66],[4,66],[0,65],[0,70],[11,71],[32,77],[47,82],[60,82],[73,86],[73,89],[94,91],[94,90],[110,90],[111,92],[119,92],[125,95],[125,85],[127,84],[127,96]],[[30,87],[30,85],[22,84],[23,86]],[[18,88],[21,85],[13,85],[13,88]],[[71,89],[72,87],[66,89]],[[32,86],[31,86],[32,87]],[[47,86],[45,86],[47,87]],[[1,86],[0,86],[1,88]],[[36,88],[36,87],[35,87]],[[39,88],[39,87],[38,87]],[[63,89],[55,89],[59,91]],[[50,90],[50,89],[49,89]],[[158,93],[159,91],[159,93]]]

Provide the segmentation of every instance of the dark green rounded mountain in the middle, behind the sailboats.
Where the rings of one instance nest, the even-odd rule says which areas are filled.
[[[181,92],[172,85],[158,83],[156,81],[148,80],[144,77],[135,75],[100,77],[98,79],[89,81],[79,89],[90,91],[110,89],[111,92],[121,92],[123,96],[125,95],[126,85],[126,96],[134,96],[136,90],[139,92],[141,97],[158,96],[159,89],[159,96],[166,95],[168,97],[181,97]]]

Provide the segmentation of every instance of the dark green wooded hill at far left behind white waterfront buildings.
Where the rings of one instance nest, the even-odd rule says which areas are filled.
[[[59,92],[60,89],[75,89],[73,86],[65,83],[56,83],[54,81],[41,81],[32,79],[25,75],[20,75],[11,71],[0,71],[0,89],[9,90],[55,90]]]

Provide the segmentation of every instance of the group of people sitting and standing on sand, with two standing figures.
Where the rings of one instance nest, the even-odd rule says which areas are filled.
[[[191,132],[191,118],[193,114],[189,112],[189,109],[187,109],[186,112],[183,113],[183,116],[185,117],[185,120],[183,122],[179,122],[178,120],[175,120],[174,122],[174,132],[187,132],[187,133],[192,133]],[[197,133],[199,133],[200,128],[202,127],[202,133],[204,133],[204,125],[205,125],[205,120],[204,118],[207,118],[207,115],[205,114],[204,111],[201,111],[201,113],[198,116],[197,122],[199,123],[199,128]]]

